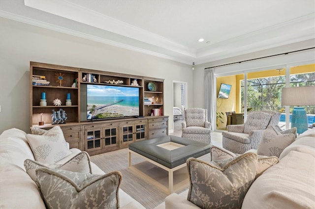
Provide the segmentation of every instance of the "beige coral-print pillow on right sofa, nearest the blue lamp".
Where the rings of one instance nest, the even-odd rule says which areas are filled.
[[[282,151],[294,141],[295,135],[293,133],[281,134],[272,126],[268,126],[260,140],[257,154],[279,158]]]

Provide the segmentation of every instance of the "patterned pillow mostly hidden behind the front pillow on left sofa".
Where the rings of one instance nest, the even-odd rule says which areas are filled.
[[[37,182],[36,169],[37,168],[58,168],[61,170],[78,172],[78,173],[89,173],[92,174],[90,156],[87,152],[78,153],[76,156],[69,159],[63,165],[59,164],[43,164],[31,159],[26,159],[24,161],[24,167],[26,172],[32,178],[32,180],[37,184],[38,188],[39,183]]]

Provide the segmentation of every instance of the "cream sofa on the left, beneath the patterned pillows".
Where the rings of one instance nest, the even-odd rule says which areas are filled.
[[[70,149],[71,155],[58,161],[63,164],[71,157],[80,153],[78,149]],[[32,150],[26,138],[26,132],[18,129],[3,131],[0,135],[0,208],[1,209],[42,209],[44,201],[31,177],[24,167],[25,159],[34,159]],[[104,174],[91,162],[93,174]],[[144,208],[140,203],[119,190],[121,208]]]

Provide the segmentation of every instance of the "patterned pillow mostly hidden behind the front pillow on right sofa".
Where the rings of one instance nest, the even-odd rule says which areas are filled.
[[[247,152],[252,152],[252,150],[249,150]],[[211,160],[218,161],[221,159],[227,159],[231,157],[238,157],[240,154],[234,154],[228,150],[225,150],[223,148],[212,146],[210,149],[211,153]],[[257,179],[265,170],[267,170],[269,167],[277,164],[279,162],[278,157],[272,156],[257,156],[257,164],[256,164],[256,176],[255,179]]]

